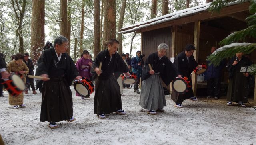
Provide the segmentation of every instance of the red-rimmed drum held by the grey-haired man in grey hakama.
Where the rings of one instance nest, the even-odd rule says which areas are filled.
[[[187,81],[188,78],[184,77],[184,78],[175,78],[172,81],[172,88],[178,92],[179,94],[185,94],[186,92],[188,92],[188,89],[191,87],[189,85],[190,81]]]

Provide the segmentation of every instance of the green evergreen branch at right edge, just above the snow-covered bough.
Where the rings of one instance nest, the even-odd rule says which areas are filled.
[[[255,21],[255,20],[254,20]],[[220,45],[228,45],[230,43],[235,43],[241,40],[244,40],[246,37],[254,37],[256,38],[256,24],[249,26],[246,29],[240,30],[240,31],[236,31],[230,35],[228,35],[228,37],[226,37],[225,39],[223,39],[222,41],[220,41]]]

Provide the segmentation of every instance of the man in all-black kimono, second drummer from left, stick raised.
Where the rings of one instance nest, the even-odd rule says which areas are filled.
[[[122,60],[121,56],[116,53],[119,47],[119,42],[116,39],[111,39],[108,42],[108,49],[101,51],[93,65],[94,76],[98,75],[96,80],[95,96],[94,96],[94,114],[99,118],[106,118],[105,114],[116,112],[120,115],[126,114],[122,110],[120,86],[117,78],[121,73],[128,72],[127,65]],[[101,70],[99,68],[102,63]]]

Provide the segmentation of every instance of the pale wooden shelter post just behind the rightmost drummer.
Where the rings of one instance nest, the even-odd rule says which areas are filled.
[[[200,20],[195,21],[194,26],[194,46],[196,47],[196,50],[194,51],[194,57],[196,61],[198,62],[198,56],[199,56],[199,35],[200,35]],[[192,72],[192,85],[193,85],[193,91],[194,95],[196,96],[196,85],[197,85],[197,75]]]

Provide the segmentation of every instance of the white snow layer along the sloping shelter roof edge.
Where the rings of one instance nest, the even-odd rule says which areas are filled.
[[[232,5],[235,5],[235,4],[238,4],[238,3],[240,3],[240,0],[238,0],[236,2],[233,2],[233,3],[230,3],[227,6],[232,6]],[[195,6],[195,7],[192,7],[192,8],[187,8],[187,9],[184,9],[184,10],[180,10],[180,11],[177,11],[177,12],[166,14],[164,16],[160,16],[158,18],[150,19],[150,20],[147,20],[147,21],[144,21],[144,22],[139,22],[139,23],[134,24],[134,25],[129,25],[127,27],[123,27],[122,29],[120,29],[120,32],[118,32],[118,33],[128,33],[128,32],[136,31],[137,29],[142,29],[144,27],[148,27],[148,26],[151,26],[151,25],[156,25],[156,24],[160,24],[160,23],[167,22],[167,21],[170,21],[170,20],[182,18],[182,17],[188,16],[188,15],[191,15],[191,14],[196,14],[196,13],[199,13],[199,12],[203,12],[203,11],[207,10],[210,7],[210,4],[211,4],[211,2],[207,3],[207,4],[200,5],[200,6]],[[131,29],[129,29],[129,28],[131,28]],[[124,30],[124,29],[127,29],[127,30]],[[122,30],[124,30],[124,31],[122,31]]]

